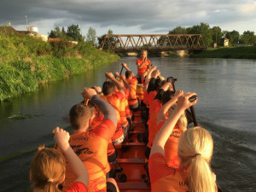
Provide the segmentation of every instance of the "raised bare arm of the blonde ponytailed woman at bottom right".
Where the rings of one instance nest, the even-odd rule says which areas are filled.
[[[197,100],[194,102],[189,102],[189,97],[196,95],[195,93],[185,93],[183,96],[179,96],[177,100],[177,108],[173,111],[169,119],[166,120],[166,123],[160,128],[160,131],[154,137],[154,143],[151,148],[150,156],[155,153],[160,153],[165,155],[165,145],[168,137],[171,135],[174,126],[177,123],[177,120],[183,113],[186,108],[195,105]]]

